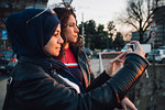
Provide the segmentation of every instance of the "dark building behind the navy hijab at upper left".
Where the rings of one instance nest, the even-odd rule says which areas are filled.
[[[26,8],[44,9],[47,0],[1,0],[0,1],[0,50],[8,48],[8,38],[2,40],[2,30],[7,30],[4,25],[6,18],[13,12],[24,10]]]

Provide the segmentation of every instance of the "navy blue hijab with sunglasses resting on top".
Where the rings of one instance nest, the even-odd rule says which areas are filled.
[[[51,57],[43,48],[61,21],[50,11],[32,19],[42,11],[42,9],[25,9],[8,16],[6,25],[9,41],[18,55]],[[29,23],[26,23],[28,20],[30,20]]]

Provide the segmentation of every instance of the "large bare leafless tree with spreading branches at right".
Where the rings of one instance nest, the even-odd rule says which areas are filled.
[[[144,38],[144,32],[148,30],[152,18],[160,7],[161,0],[128,0],[125,16],[120,18],[123,23],[132,25],[140,36],[140,43],[146,43],[150,40]]]

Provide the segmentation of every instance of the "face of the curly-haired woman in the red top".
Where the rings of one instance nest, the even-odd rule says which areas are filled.
[[[64,35],[67,37],[67,43],[76,43],[78,33],[79,30],[77,28],[76,19],[74,15],[69,15],[67,26],[64,30]]]

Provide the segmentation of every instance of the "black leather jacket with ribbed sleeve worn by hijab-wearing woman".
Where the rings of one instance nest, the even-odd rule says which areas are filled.
[[[109,110],[136,84],[147,66],[141,56],[129,54],[114,77],[101,87],[77,94],[58,76],[68,75],[67,69],[54,69],[50,64],[22,57],[12,73],[7,110]]]

